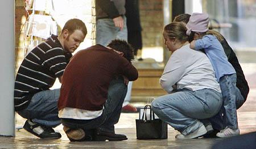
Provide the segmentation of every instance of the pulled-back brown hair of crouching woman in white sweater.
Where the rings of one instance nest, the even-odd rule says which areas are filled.
[[[181,42],[188,41],[187,28],[181,22],[172,22],[164,27],[164,32],[169,39],[177,39]]]

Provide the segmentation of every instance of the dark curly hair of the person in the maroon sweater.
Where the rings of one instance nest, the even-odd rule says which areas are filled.
[[[133,47],[131,47],[131,45],[125,40],[112,40],[108,46],[114,50],[122,52],[123,57],[125,57],[129,62],[134,59]]]

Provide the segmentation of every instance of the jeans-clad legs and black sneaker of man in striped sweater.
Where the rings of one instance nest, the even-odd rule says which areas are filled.
[[[60,138],[61,135],[51,129],[61,124],[57,109],[59,96],[60,89],[35,93],[28,107],[18,112],[28,119],[24,129],[40,138]]]

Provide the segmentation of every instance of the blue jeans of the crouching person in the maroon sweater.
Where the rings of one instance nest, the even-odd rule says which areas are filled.
[[[100,117],[92,120],[75,120],[72,118],[61,118],[61,122],[64,126],[77,129],[81,128],[85,131],[91,129],[101,129],[109,133],[114,133],[114,124],[117,124],[121,110],[123,100],[127,92],[127,86],[123,82],[123,78],[112,80],[109,85],[108,99],[104,104],[104,110]]]

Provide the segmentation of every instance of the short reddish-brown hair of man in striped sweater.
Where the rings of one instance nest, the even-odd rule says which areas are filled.
[[[84,34],[84,36],[86,36],[86,34],[87,34],[87,29],[86,29],[86,26],[85,26],[84,22],[82,22],[79,19],[70,19],[70,20],[68,20],[65,23],[61,32],[63,32],[65,29],[67,29],[70,34],[75,32],[76,29],[81,30],[82,33]]]

